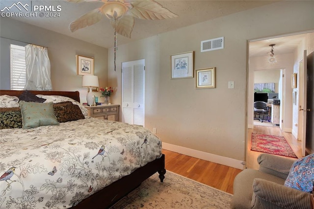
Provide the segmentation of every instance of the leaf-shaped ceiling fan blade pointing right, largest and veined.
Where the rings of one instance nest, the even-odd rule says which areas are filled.
[[[131,3],[130,14],[144,20],[163,20],[178,17],[154,0],[135,0]]]

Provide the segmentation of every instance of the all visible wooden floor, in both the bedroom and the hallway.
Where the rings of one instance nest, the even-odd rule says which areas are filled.
[[[247,168],[259,169],[257,157],[260,152],[251,151],[252,133],[264,133],[271,135],[284,136],[297,157],[301,157],[301,142],[297,141],[291,133],[280,130],[279,127],[254,126],[254,129],[248,130],[247,143]],[[240,169],[232,168],[226,165],[209,162],[195,157],[185,156],[179,153],[162,150],[165,154],[166,170],[177,173],[181,176],[207,184],[219,190],[233,194],[233,182],[235,176],[241,172]],[[287,157],[290,158],[290,157]],[[295,158],[292,158],[295,159]]]

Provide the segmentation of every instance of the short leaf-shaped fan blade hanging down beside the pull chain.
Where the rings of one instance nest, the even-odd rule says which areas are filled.
[[[124,15],[120,20],[112,21],[110,24],[116,29],[116,32],[127,38],[131,38],[131,33],[134,26],[134,17],[130,15]]]

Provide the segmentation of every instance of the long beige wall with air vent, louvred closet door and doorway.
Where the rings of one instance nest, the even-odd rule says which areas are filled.
[[[110,48],[108,83],[119,90],[111,100],[121,104],[121,63],[144,58],[145,126],[157,128],[165,143],[244,160],[247,40],[313,29],[313,7],[313,1],[283,1],[121,45],[116,72]],[[221,36],[225,49],[200,52],[202,40]],[[170,55],[189,51],[195,69],[216,67],[216,88],[195,89],[194,78],[170,79]]]

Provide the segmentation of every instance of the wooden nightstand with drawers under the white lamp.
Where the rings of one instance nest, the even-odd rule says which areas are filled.
[[[88,111],[88,116],[93,118],[101,118],[108,121],[119,121],[118,104],[105,104],[98,106],[84,106]]]

